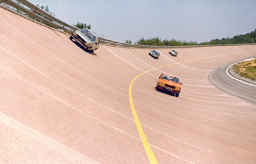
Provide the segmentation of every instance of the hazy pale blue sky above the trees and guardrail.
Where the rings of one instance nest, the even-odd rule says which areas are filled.
[[[91,24],[100,37],[132,43],[142,37],[197,41],[234,37],[256,29],[255,0],[28,0],[55,17]]]

